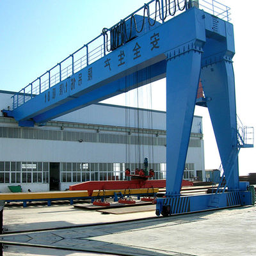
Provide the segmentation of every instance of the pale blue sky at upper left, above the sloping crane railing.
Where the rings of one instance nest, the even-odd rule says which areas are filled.
[[[0,90],[17,91],[143,5],[141,0],[0,1]]]

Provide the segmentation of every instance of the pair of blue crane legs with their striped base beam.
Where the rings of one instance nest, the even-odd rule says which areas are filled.
[[[201,67],[202,62],[202,52],[199,50],[188,51],[175,57],[170,54],[167,60],[166,198],[157,199],[157,215],[168,216],[252,204],[252,195],[246,188],[248,182],[239,182],[238,175],[236,98],[232,62],[226,56],[204,67]],[[200,78],[225,170],[228,193],[217,196],[180,196]]]

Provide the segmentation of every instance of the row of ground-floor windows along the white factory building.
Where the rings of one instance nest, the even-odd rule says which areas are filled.
[[[89,180],[126,180],[125,168],[134,174],[136,168],[143,168],[143,163],[60,163],[61,182],[85,182]],[[149,163],[154,177],[166,179],[166,163]],[[183,179],[196,179],[194,163],[186,163]],[[0,183],[48,183],[48,162],[0,162]]]

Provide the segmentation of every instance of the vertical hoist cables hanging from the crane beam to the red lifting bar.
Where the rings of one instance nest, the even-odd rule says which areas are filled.
[[[153,131],[151,69],[147,69],[145,74],[148,77],[145,86],[141,82],[141,74],[136,72],[137,88],[125,93],[125,175],[127,179],[131,175],[154,176],[155,132]],[[127,87],[126,83],[125,87]]]

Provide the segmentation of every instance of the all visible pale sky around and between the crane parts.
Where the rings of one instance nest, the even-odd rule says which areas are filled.
[[[201,0],[202,1],[202,0]],[[255,9],[256,2],[219,0],[231,8],[236,55],[237,114],[244,125],[256,127],[255,115]],[[0,1],[0,90],[18,91],[113,26],[145,0],[1,0]],[[164,109],[164,81],[155,87],[154,108]],[[161,90],[160,90],[161,89]],[[124,101],[124,98],[121,99]],[[207,109],[196,109],[204,117],[205,168],[218,168],[220,159]],[[256,172],[256,150],[242,149],[240,173]]]

